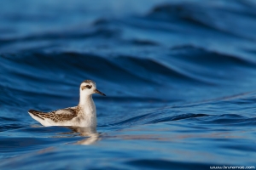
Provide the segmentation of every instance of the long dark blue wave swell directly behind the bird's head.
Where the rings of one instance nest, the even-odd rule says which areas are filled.
[[[242,74],[247,72],[251,77],[255,66],[241,57],[194,46],[173,47],[168,53],[154,58],[75,52],[47,54],[39,51],[4,54],[0,65],[6,77],[1,78],[0,86],[6,95],[15,92],[70,98],[77,96],[79,82],[93,79],[103,91],[112,91],[110,97],[170,100],[172,98],[168,95],[172,90],[169,89],[176,88],[172,82],[187,84],[187,88],[214,88],[225,85],[226,80],[230,83],[233,83],[232,79],[236,81],[234,76],[241,69]],[[38,90],[38,87],[44,88]],[[160,90],[155,91],[158,88]],[[167,95],[164,97],[163,94]],[[0,100],[6,101],[5,97]]]

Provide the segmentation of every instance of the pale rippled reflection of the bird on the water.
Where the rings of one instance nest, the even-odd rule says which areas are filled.
[[[100,133],[97,133],[96,127],[67,127],[72,129],[73,133],[80,133],[80,136],[86,137],[74,144],[94,144],[100,140]]]

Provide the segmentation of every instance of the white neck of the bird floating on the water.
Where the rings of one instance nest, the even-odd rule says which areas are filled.
[[[91,95],[80,95],[80,111],[87,116],[96,116],[96,106]]]

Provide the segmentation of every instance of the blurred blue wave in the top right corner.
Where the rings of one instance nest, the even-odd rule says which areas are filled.
[[[245,3],[243,8],[232,8],[219,4],[212,6],[209,3],[166,3],[155,7],[147,14],[147,17],[153,20],[179,23],[179,25],[183,26],[198,26],[223,32],[234,37],[255,40],[255,37],[252,37],[252,31],[255,29],[253,20],[255,20],[256,15],[252,12],[245,12],[252,11],[251,8],[250,5],[245,5]],[[219,20],[219,16],[225,17]],[[225,24],[225,20],[229,22],[229,25]],[[234,22],[231,20],[234,20]],[[246,26],[237,24],[241,22]],[[243,30],[247,30],[247,32]]]

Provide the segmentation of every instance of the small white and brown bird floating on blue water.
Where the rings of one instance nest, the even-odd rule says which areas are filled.
[[[103,94],[96,89],[96,82],[85,80],[80,84],[79,105],[56,111],[43,112],[29,110],[33,119],[40,122],[44,127],[72,126],[72,127],[96,127],[96,105],[92,94]]]

